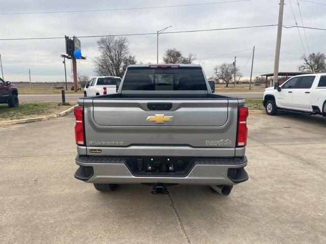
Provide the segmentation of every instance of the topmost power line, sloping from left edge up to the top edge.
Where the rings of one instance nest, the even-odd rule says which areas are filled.
[[[248,2],[251,0],[234,0],[234,1],[223,1],[213,3],[202,3],[202,4],[183,4],[183,5],[166,5],[166,6],[150,6],[150,7],[138,7],[138,8],[121,8],[121,9],[93,9],[93,10],[69,10],[69,11],[48,11],[48,12],[20,12],[20,13],[0,13],[0,15],[17,15],[17,14],[58,14],[58,13],[81,13],[81,12],[104,12],[104,11],[126,11],[126,10],[142,10],[142,9],[160,9],[160,8],[177,8],[177,7],[190,7],[200,5],[215,5],[215,4],[228,4],[228,3],[239,3]]]

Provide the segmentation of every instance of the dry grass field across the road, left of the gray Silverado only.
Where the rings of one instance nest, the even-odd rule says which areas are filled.
[[[32,83],[30,89],[30,83],[14,83],[13,84],[18,88],[18,94],[61,94],[61,89],[55,89],[55,86],[63,86],[65,93],[73,94],[71,90],[72,84],[68,83],[68,90],[66,91],[66,84],[61,83]],[[83,89],[78,90],[79,94],[83,94]]]

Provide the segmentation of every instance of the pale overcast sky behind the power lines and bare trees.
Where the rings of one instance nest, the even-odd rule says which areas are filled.
[[[198,3],[226,2],[232,0],[174,0],[174,1],[41,1],[1,0],[0,39],[89,36],[108,34],[154,33],[172,25],[168,31],[226,28],[250,25],[277,24],[279,0],[251,0],[248,2],[220,3],[213,5],[175,8],[155,8],[124,11],[3,15],[17,12],[48,12],[67,10],[94,10],[184,5]],[[297,0],[291,0],[298,25],[302,25]],[[326,4],[325,0],[314,0]],[[299,1],[305,26],[324,28],[326,5]],[[284,25],[294,25],[289,0],[285,0]],[[303,29],[300,30],[308,53]],[[310,52],[326,53],[326,31],[306,29]],[[232,63],[237,57],[237,66],[244,77],[250,76],[253,46],[256,46],[254,76],[273,73],[277,26],[227,31],[165,34],[159,36],[159,59],[168,48],[177,48],[184,55],[197,55],[196,63],[203,66],[207,76],[213,74],[213,67]],[[156,63],[156,36],[130,36],[130,52],[138,62]],[[82,53],[87,60],[77,62],[80,74],[94,76],[93,58],[98,55],[98,38],[81,38]],[[246,50],[247,49],[247,50]],[[244,50],[244,51],[242,51]],[[240,51],[240,52],[238,52]],[[296,71],[304,54],[296,28],[283,28],[280,71]],[[237,53],[234,53],[237,52]],[[284,53],[290,52],[290,53]],[[64,81],[64,67],[60,54],[65,53],[64,39],[0,41],[4,77],[10,81],[28,81],[31,69],[32,81]],[[231,53],[231,54],[229,54]],[[224,55],[225,54],[225,55]],[[219,56],[219,57],[215,57]],[[208,58],[210,57],[210,58]],[[13,72],[14,71],[14,72]],[[70,62],[67,75],[71,80]]]

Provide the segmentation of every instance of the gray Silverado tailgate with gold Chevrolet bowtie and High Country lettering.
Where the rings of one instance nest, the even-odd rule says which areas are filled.
[[[168,110],[151,110],[153,104]],[[237,99],[85,99],[84,107],[88,148],[222,147],[234,155]],[[156,123],[162,116],[166,121]]]

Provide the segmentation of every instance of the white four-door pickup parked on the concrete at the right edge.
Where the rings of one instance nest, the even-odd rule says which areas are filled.
[[[297,75],[281,86],[277,82],[265,89],[263,105],[268,115],[285,110],[326,116],[326,73]]]

